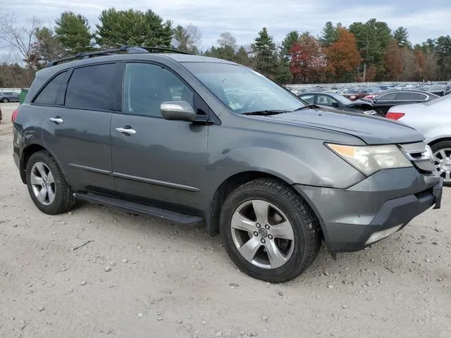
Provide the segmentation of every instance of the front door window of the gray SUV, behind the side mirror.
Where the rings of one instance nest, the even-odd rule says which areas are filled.
[[[161,117],[164,101],[187,101],[194,106],[192,90],[169,70],[149,63],[125,66],[125,113]]]

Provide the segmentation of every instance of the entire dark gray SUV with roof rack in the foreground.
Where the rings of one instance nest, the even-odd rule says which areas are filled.
[[[440,208],[418,131],[321,110],[228,61],[124,46],[37,72],[13,114],[32,201],[76,199],[221,232],[248,275],[297,277],[321,242],[357,251]]]

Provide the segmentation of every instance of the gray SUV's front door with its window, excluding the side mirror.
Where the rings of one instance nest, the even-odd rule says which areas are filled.
[[[197,208],[205,177],[208,126],[164,120],[163,101],[187,101],[192,89],[161,65],[126,63],[123,111],[111,120],[111,161],[118,194]]]

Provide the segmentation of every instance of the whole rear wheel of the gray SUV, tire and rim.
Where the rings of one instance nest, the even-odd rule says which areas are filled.
[[[28,192],[40,211],[56,215],[73,208],[73,192],[58,163],[48,151],[32,154],[27,161],[26,170]]]

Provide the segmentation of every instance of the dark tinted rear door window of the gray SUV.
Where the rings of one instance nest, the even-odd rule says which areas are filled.
[[[66,106],[112,111],[116,97],[117,65],[89,65],[73,71],[66,92]]]

